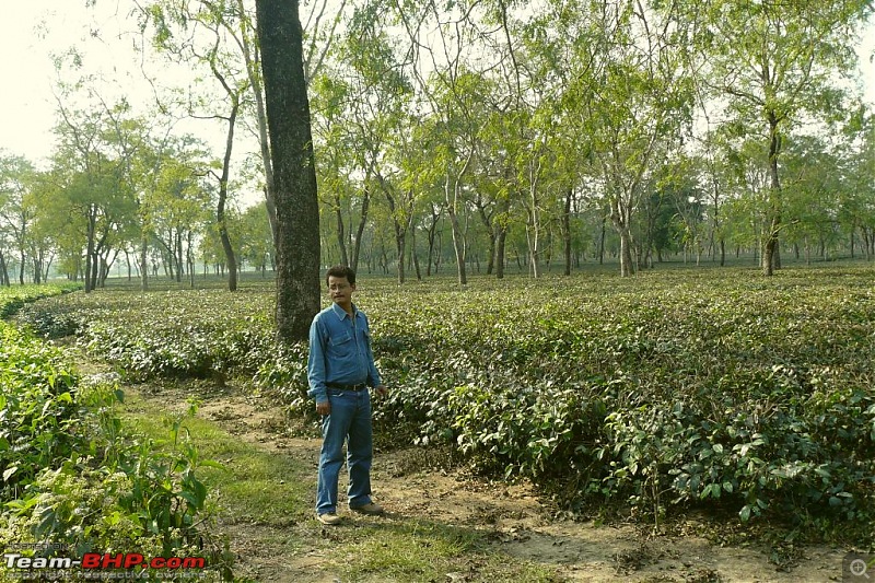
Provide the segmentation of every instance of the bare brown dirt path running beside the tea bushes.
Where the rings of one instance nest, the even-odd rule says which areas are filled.
[[[163,406],[168,403],[166,394],[145,398],[160,398]],[[265,452],[303,460],[313,467],[315,479],[319,441],[289,438],[279,412],[228,392],[205,400],[198,416]],[[428,466],[423,455],[420,450],[376,454],[374,497],[388,513],[371,520],[418,517],[476,528],[497,550],[555,568],[560,580],[571,582],[841,581],[843,549],[805,547],[795,553],[792,565],[778,570],[761,548],[721,547],[687,534],[704,530],[695,521],[688,527],[676,526],[675,535],[651,536],[632,525],[596,526],[555,518],[553,509],[527,485],[485,483],[458,471],[421,469]],[[342,483],[340,491],[345,491]],[[316,521],[312,523],[303,527],[318,530]],[[232,550],[240,557],[235,572],[238,569],[258,581],[339,581],[326,574],[327,560],[318,550],[299,552],[290,564],[288,555],[280,558],[276,549],[265,548],[264,540],[282,538],[277,530],[258,524],[229,525]],[[464,572],[447,573],[446,581],[466,579]]]

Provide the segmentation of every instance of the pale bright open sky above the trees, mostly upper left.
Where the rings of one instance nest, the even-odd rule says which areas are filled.
[[[135,28],[126,18],[130,0],[96,0],[85,8],[86,0],[9,0],[3,5],[0,24],[0,151],[23,155],[37,166],[47,164],[56,123],[52,95],[56,72],[49,55],[71,46],[83,51],[85,66],[114,78],[133,96],[149,95],[151,90],[137,69],[132,49],[135,37],[120,31]],[[100,31],[92,36],[91,31]],[[866,98],[875,103],[875,24],[871,25],[861,47],[861,67],[866,84]],[[201,123],[205,135],[214,128]],[[220,141],[221,143],[221,141]]]

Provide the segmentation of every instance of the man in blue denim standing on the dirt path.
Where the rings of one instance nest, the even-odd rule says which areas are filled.
[[[349,508],[364,514],[382,514],[371,500],[373,439],[371,396],[368,387],[385,395],[371,351],[368,317],[352,303],[355,272],[335,266],[325,276],[331,305],[316,314],[310,327],[307,395],[316,400],[322,420],[322,453],[316,488],[316,516],[325,525],[340,524],[337,515],[337,479],[347,442]]]

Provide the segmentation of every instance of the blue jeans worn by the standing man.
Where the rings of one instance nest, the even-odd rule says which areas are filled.
[[[347,442],[350,506],[371,503],[371,395],[368,389],[328,389],[331,412],[322,420],[322,454],[316,486],[316,514],[337,512],[337,478],[343,465],[343,442]]]

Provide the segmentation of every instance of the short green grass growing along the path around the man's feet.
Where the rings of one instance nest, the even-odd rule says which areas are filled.
[[[170,446],[167,424],[178,410],[167,405],[182,399],[161,403],[130,388],[126,395],[126,422],[160,446]],[[490,549],[485,535],[471,528],[366,517],[323,528],[313,516],[315,468],[282,451],[248,443],[200,416],[183,424],[200,457],[224,467],[205,468],[202,478],[211,492],[212,529],[241,538],[232,548],[257,548],[259,556],[273,560],[308,552],[323,557],[316,571],[341,581],[443,581],[454,572],[471,582],[558,581],[553,569]],[[259,581],[259,567],[237,569],[243,575],[237,580]],[[312,567],[310,571],[312,575]]]

